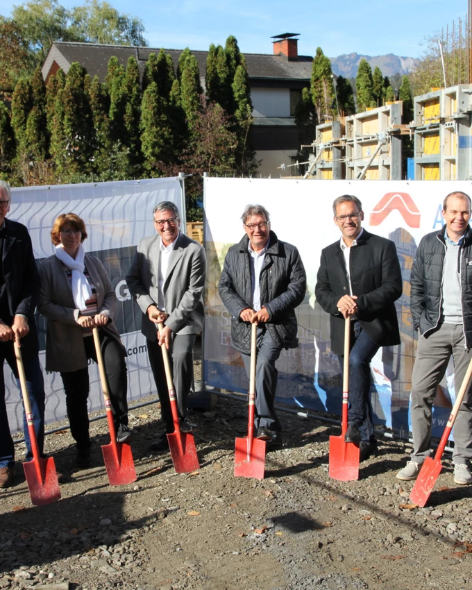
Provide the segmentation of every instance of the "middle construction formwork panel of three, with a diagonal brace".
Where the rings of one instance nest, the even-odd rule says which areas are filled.
[[[346,117],[346,179],[401,180],[401,101]]]

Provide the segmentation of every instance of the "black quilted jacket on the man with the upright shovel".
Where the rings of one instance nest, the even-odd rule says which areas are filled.
[[[226,254],[218,290],[224,306],[230,312],[231,344],[240,353],[251,352],[251,324],[239,317],[252,305],[251,262],[249,239],[245,235]],[[273,231],[260,272],[260,303],[269,312],[267,330],[278,348],[296,348],[297,323],[295,307],[306,292],[306,274],[295,246],[280,242]]]

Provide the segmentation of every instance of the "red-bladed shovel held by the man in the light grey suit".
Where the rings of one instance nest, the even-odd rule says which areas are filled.
[[[162,332],[162,323],[158,323],[159,333]],[[169,389],[169,399],[171,401],[172,419],[174,421],[174,432],[167,435],[169,450],[171,451],[172,462],[177,473],[190,473],[200,469],[199,457],[196,455],[194,435],[190,432],[180,431],[180,421],[178,419],[176,391],[172,382],[171,367],[169,365],[169,353],[165,344],[160,347],[162,350],[162,359],[164,360],[165,378],[167,379],[167,389]]]

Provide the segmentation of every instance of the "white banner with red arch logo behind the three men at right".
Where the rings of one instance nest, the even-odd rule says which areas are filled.
[[[297,310],[299,346],[283,351],[277,364],[278,401],[340,413],[339,362],[330,352],[329,317],[315,301],[314,286],[322,248],[340,237],[333,220],[332,202],[342,194],[354,194],[362,201],[363,226],[392,239],[401,263],[403,295],[396,302],[401,346],[382,348],[373,360],[372,403],[378,423],[409,430],[408,407],[416,351],[410,312],[410,270],[421,237],[439,230],[443,224],[444,197],[458,189],[472,194],[472,183],[206,178],[208,290],[203,375],[207,385],[247,391],[242,360],[231,348],[230,314],[221,303],[217,285],[228,248],[244,235],[244,207],[260,203],[269,210],[271,229],[278,238],[298,248],[307,272],[307,295]],[[453,400],[453,371],[449,369],[436,398],[435,435],[441,435]]]

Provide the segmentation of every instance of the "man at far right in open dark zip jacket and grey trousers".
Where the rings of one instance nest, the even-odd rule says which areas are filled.
[[[471,199],[462,192],[446,196],[446,221],[441,231],[421,240],[411,273],[411,305],[419,340],[412,373],[411,416],[413,452],[397,473],[400,480],[416,479],[431,447],[432,403],[453,356],[455,391],[459,391],[472,356]],[[454,481],[472,483],[471,388],[457,414],[454,428]]]

